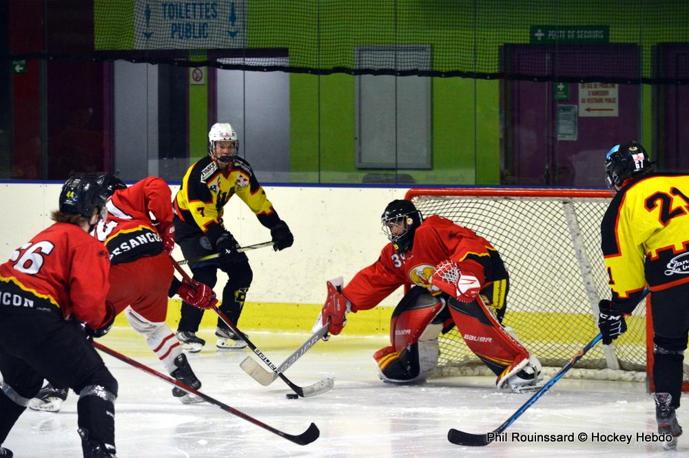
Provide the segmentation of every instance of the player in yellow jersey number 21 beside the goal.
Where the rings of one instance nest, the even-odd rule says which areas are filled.
[[[664,446],[675,448],[689,329],[689,175],[652,172],[646,150],[632,141],[610,149],[606,176],[615,198],[601,222],[601,248],[612,297],[601,300],[598,325],[610,344],[650,289],[658,432],[672,435]]]

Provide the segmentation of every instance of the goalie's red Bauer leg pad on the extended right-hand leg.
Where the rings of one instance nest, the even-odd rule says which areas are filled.
[[[504,386],[511,375],[530,364],[528,350],[505,331],[486,309],[480,296],[473,302],[460,302],[451,298],[449,306],[464,342],[498,376],[497,384]],[[537,360],[534,362],[535,372],[540,373],[540,364],[536,363]],[[517,369],[517,366],[520,367]]]

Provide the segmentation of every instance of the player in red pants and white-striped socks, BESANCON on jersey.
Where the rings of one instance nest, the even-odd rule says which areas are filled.
[[[172,329],[165,324],[167,299],[180,295],[188,304],[206,308],[215,295],[205,284],[183,283],[173,276],[169,252],[174,248],[172,194],[162,178],[150,176],[127,187],[110,174],[99,178],[105,196],[107,221],[96,226],[96,238],[110,251],[110,289],[107,300],[163,362],[167,372],[180,382],[200,388],[186,355]],[[152,220],[150,214],[154,216]],[[172,284],[171,284],[172,282]],[[185,404],[202,399],[172,388],[172,395]],[[56,412],[67,393],[44,386],[29,404],[34,410]]]

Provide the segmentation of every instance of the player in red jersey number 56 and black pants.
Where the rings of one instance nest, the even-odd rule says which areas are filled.
[[[0,444],[45,377],[79,393],[83,456],[115,457],[117,382],[88,341],[115,316],[105,300],[107,250],[88,235],[103,204],[96,180],[70,178],[55,223],[0,265]]]

